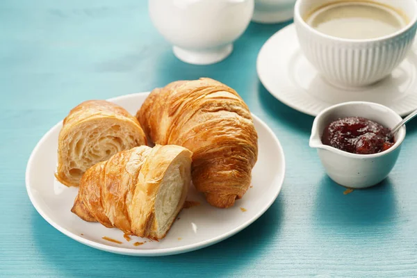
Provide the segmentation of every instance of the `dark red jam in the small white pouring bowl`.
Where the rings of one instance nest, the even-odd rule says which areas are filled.
[[[330,123],[322,143],[352,154],[377,154],[394,145],[390,129],[363,117],[345,117]]]

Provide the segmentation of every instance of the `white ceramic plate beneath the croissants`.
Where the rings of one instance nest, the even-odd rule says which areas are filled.
[[[135,115],[147,95],[146,92],[109,100]],[[33,206],[47,222],[90,247],[133,256],[190,252],[233,236],[259,218],[277,198],[284,181],[284,152],[275,134],[256,116],[254,124],[259,136],[259,157],[252,171],[252,187],[244,197],[236,201],[232,208],[214,208],[192,186],[187,199],[201,204],[183,209],[179,214],[180,219],[174,222],[167,236],[159,242],[136,236],[127,242],[122,231],[107,229],[99,223],[84,222],[70,212],[78,188],[67,188],[54,177],[58,133],[62,122],[49,130],[33,149],[26,168],[26,189]],[[119,240],[122,244],[104,240],[104,236]],[[133,243],[145,240],[147,243],[133,246]]]

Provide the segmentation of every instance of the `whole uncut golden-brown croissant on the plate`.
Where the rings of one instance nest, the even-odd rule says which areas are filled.
[[[235,90],[213,79],[175,81],[152,90],[136,117],[156,144],[193,152],[193,183],[209,204],[227,208],[243,197],[258,136]]]

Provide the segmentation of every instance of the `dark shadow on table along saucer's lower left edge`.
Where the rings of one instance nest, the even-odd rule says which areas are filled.
[[[261,81],[259,81],[258,85],[258,95],[263,109],[265,109],[268,114],[274,115],[275,120],[279,121],[280,124],[284,124],[291,129],[296,129],[297,131],[302,131],[306,134],[311,133],[314,117],[296,111],[275,99],[275,97],[263,87]]]

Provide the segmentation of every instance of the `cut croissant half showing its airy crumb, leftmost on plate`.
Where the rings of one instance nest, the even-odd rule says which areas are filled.
[[[85,101],[63,121],[55,176],[66,186],[78,186],[83,173],[92,165],[146,143],[138,120],[124,108],[103,100]]]

